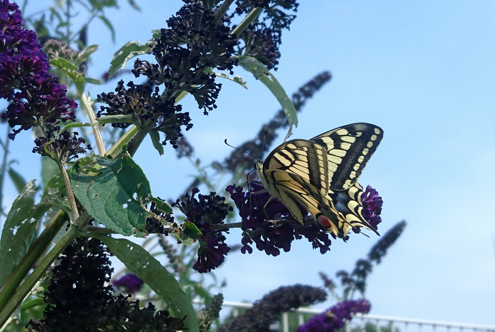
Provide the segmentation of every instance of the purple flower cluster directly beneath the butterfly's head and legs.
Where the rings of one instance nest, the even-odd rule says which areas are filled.
[[[252,190],[247,192],[235,185],[226,188],[239,209],[239,215],[244,223],[242,253],[251,253],[250,244],[254,242],[258,250],[265,251],[267,255],[278,256],[280,249],[288,252],[291,250],[292,241],[302,237],[306,237],[314,249],[319,248],[322,254],[330,250],[332,242],[328,234],[312,219],[306,225],[301,225],[278,199],[272,199],[264,208],[270,199],[270,194],[257,192],[264,190],[264,187],[256,183],[251,182],[251,186]]]

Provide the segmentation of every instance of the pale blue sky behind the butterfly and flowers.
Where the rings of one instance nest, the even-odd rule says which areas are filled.
[[[99,44],[89,76],[99,77],[120,46],[144,42],[181,5],[179,0],[125,1],[109,12],[116,42],[94,24],[89,44]],[[283,34],[277,79],[289,94],[323,70],[332,81],[308,102],[293,138],[308,139],[353,122],[370,122],[385,136],[360,183],[384,199],[381,233],[408,223],[402,237],[369,278],[372,313],[495,325],[494,103],[495,4],[492,1],[301,1]],[[27,12],[48,5],[30,4]],[[251,138],[279,109],[275,98],[242,68],[249,90],[224,83],[218,108],[203,116],[190,98],[184,108],[194,127],[186,137],[206,164]],[[132,75],[123,77],[135,80]],[[110,92],[115,82],[92,88]],[[279,142],[283,140],[279,137]],[[30,134],[13,151],[26,179],[39,178]],[[150,142],[136,154],[154,195],[176,197],[195,171],[169,145],[159,156]],[[11,188],[11,187],[9,187]],[[7,197],[10,201],[14,198]],[[305,240],[278,257],[233,253],[216,270],[226,278],[226,300],[256,300],[280,285],[321,285],[319,271],[351,270],[377,237],[333,241],[324,255]],[[233,231],[228,243],[240,241]],[[116,265],[118,266],[118,264]],[[330,302],[319,307],[324,308]]]

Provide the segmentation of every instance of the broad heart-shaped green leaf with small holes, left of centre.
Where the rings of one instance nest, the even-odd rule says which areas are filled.
[[[74,194],[88,213],[105,227],[122,235],[146,233],[146,219],[153,217],[170,225],[148,210],[152,201],[159,202],[156,207],[165,213],[171,208],[165,202],[151,196],[148,179],[143,170],[124,149],[115,160],[97,156],[97,162],[103,166],[101,174],[91,173],[76,162],[71,171]]]

